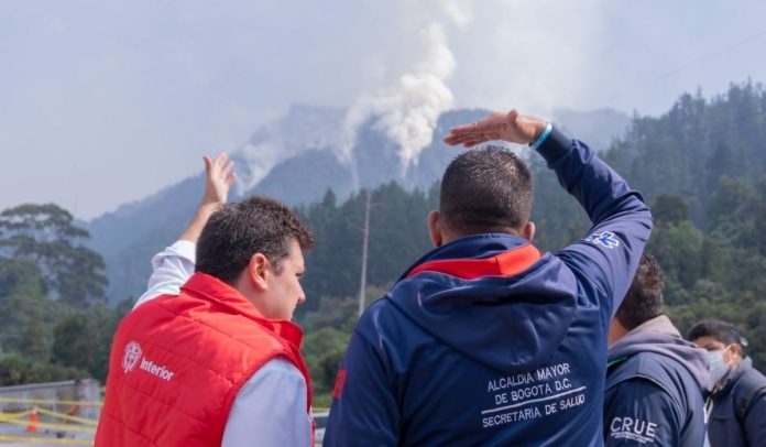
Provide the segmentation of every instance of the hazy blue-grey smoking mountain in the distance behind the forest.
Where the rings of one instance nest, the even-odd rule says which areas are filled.
[[[319,201],[332,189],[342,201],[360,188],[392,181],[406,189],[427,189],[461,151],[441,142],[447,130],[486,113],[481,109],[442,113],[431,143],[412,163],[403,164],[398,144],[377,128],[374,119],[357,129],[354,143],[346,151],[344,109],[293,106],[284,117],[259,128],[242,148],[232,151],[238,181],[231,199],[262,194],[298,206]],[[597,149],[608,148],[630,122],[627,116],[612,110],[558,110],[554,119],[572,135],[593,141]],[[107,262],[111,303],[143,292],[151,257],[178,237],[194,212],[201,195],[201,176],[122,205],[88,224],[90,247]]]

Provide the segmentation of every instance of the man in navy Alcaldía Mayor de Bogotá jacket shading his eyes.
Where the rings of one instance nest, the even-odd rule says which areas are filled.
[[[493,140],[530,143],[591,231],[540,253],[525,164],[500,149],[456,157],[428,218],[436,249],[357,324],[324,445],[603,444],[606,327],[652,216],[593,151],[543,120],[494,113],[445,139]]]

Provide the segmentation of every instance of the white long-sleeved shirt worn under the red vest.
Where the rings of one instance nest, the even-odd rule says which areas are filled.
[[[160,295],[178,295],[194,274],[195,249],[193,242],[179,240],[157,253],[149,288],[133,308]],[[306,394],[306,380],[294,364],[284,359],[267,361],[237,393],[221,446],[310,446]]]

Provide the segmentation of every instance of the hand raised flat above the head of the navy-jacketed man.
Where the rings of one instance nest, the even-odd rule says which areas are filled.
[[[450,129],[445,143],[466,148],[497,140],[526,144],[535,141],[546,124],[544,120],[519,115],[515,109],[507,113],[495,112],[474,123]]]

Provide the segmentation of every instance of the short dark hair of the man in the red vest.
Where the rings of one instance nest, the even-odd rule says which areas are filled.
[[[314,247],[314,236],[300,219],[277,200],[252,196],[227,204],[208,219],[197,242],[196,271],[232,283],[255,253],[280,271],[295,239],[302,250]]]

